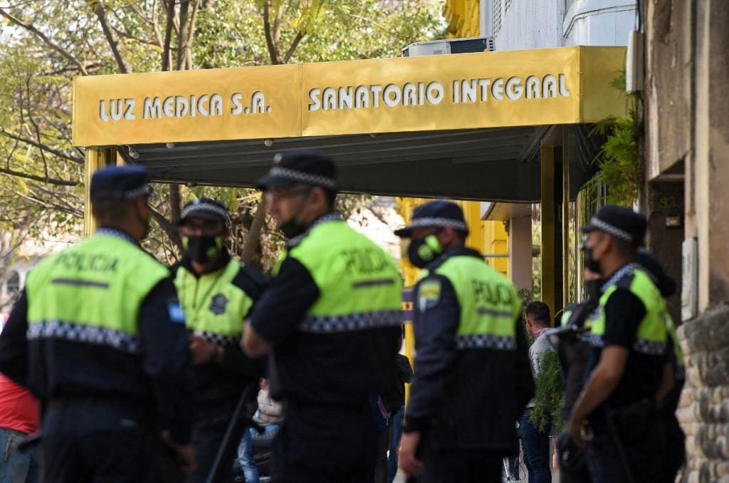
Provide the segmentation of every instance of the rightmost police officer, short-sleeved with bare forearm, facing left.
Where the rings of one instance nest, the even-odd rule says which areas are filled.
[[[608,205],[583,227],[585,266],[601,274],[598,314],[590,328],[591,369],[574,403],[567,433],[585,442],[593,482],[658,480],[663,425],[655,414],[668,343],[666,304],[635,263],[647,222],[630,209]]]

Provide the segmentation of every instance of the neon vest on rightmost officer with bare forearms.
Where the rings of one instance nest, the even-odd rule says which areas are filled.
[[[628,279],[628,277],[630,277]],[[626,282],[626,280],[628,282]],[[629,283],[629,285],[628,285]],[[593,320],[590,331],[590,343],[595,347],[602,347],[602,336],[605,333],[605,305],[610,295],[618,287],[627,288],[643,302],[645,315],[638,325],[634,351],[648,355],[663,355],[666,353],[668,328],[666,317],[666,301],[660,290],[653,284],[648,275],[634,263],[630,263],[609,279],[603,287],[600,304]],[[619,323],[620,321],[617,321]]]

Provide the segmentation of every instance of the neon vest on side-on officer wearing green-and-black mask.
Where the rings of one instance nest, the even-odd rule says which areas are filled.
[[[425,270],[422,277],[430,273]],[[521,301],[506,277],[470,255],[448,257],[432,273],[451,282],[461,307],[456,347],[516,349],[516,320]]]

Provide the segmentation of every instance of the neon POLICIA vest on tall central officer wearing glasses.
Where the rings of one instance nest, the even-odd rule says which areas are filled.
[[[339,215],[319,219],[286,256],[298,260],[319,288],[300,331],[336,333],[402,324],[397,265]]]

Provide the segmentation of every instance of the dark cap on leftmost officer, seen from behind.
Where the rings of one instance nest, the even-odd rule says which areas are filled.
[[[91,201],[107,199],[134,199],[149,196],[147,169],[142,166],[108,166],[99,169],[91,177],[89,196]]]

